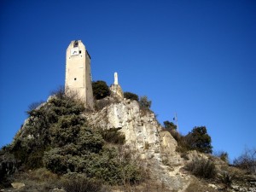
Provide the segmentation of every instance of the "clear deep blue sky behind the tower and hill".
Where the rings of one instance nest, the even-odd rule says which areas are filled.
[[[256,147],[256,1],[0,2],[0,146],[32,102],[65,80],[68,44],[81,39],[94,80],[148,96],[160,123],[183,134],[206,125],[213,150]]]

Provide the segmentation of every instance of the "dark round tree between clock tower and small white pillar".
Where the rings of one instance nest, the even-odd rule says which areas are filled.
[[[106,96],[110,96],[110,90],[105,81],[92,82],[92,91],[96,99],[103,99]]]

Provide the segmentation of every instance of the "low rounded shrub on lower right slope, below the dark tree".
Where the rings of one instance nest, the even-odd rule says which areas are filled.
[[[213,178],[216,176],[216,167],[211,160],[193,160],[185,169],[196,177]]]

